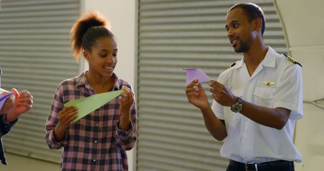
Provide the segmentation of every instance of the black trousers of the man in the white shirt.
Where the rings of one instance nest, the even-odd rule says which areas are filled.
[[[246,170],[258,170],[258,171],[295,171],[293,161],[277,160],[257,164],[246,164],[229,160],[229,165],[226,171],[246,171]]]

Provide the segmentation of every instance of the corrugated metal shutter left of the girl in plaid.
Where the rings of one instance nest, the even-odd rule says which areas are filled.
[[[3,137],[6,152],[60,163],[61,150],[45,143],[45,123],[58,84],[78,74],[69,31],[79,16],[78,0],[2,1],[2,88],[28,90],[33,108]]]

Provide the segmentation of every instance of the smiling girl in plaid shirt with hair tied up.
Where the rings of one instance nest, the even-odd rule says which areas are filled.
[[[71,29],[75,59],[83,53],[89,70],[59,84],[47,119],[45,139],[50,149],[64,147],[61,170],[128,170],[126,150],[137,139],[137,108],[131,84],[113,73],[117,44],[108,25],[99,13],[90,12]],[[63,106],[117,90],[124,92],[75,122],[76,107]]]

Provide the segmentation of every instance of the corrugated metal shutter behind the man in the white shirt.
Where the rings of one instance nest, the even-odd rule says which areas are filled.
[[[138,170],[226,169],[223,142],[212,138],[200,110],[187,102],[180,68],[201,68],[217,79],[241,59],[225,30],[226,12],[240,2],[138,1]],[[252,2],[265,12],[265,44],[287,52],[273,2]],[[208,91],[207,83],[203,87]]]

